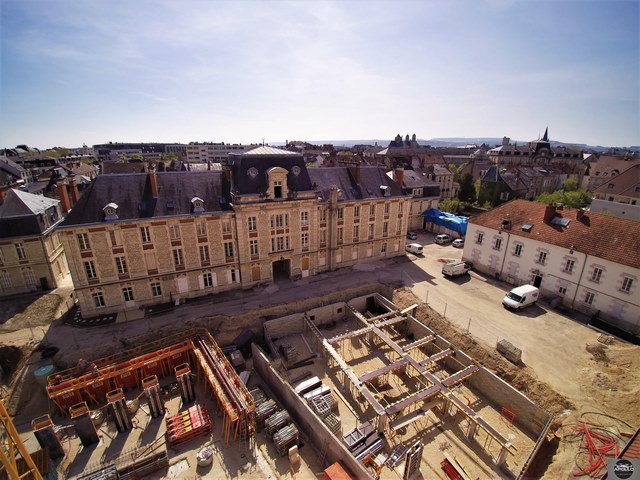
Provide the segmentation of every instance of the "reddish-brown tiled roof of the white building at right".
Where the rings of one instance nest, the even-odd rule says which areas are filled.
[[[573,249],[621,265],[640,268],[640,224],[633,220],[585,212],[578,220],[578,210],[563,208],[556,216],[570,220],[565,228],[544,223],[547,205],[528,200],[512,200],[469,220],[469,223],[495,230],[502,220],[511,220],[509,234]],[[521,226],[533,225],[530,232]]]

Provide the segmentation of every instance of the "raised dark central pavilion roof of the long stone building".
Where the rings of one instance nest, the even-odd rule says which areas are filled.
[[[287,175],[289,190],[297,192],[313,190],[304,159],[299,153],[272,147],[258,147],[247,152],[230,153],[229,163],[234,193],[244,195],[266,192],[268,189],[267,171],[273,167],[281,167],[289,172]],[[293,172],[294,167],[300,169],[298,175]],[[257,175],[250,175],[250,169],[255,169]]]

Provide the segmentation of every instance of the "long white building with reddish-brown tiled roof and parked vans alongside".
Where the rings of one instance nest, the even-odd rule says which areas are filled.
[[[463,258],[640,336],[640,223],[513,200],[469,220]]]

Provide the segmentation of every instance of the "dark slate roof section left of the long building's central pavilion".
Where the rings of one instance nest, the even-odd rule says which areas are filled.
[[[158,172],[158,198],[151,196],[145,173],[98,175],[61,227],[104,222],[103,208],[118,205],[118,220],[137,220],[192,213],[191,199],[204,200],[204,213],[228,210],[226,182],[220,171]]]

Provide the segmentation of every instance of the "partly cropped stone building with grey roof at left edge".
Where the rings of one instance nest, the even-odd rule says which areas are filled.
[[[69,273],[60,201],[10,189],[0,205],[0,295],[56,288]]]

